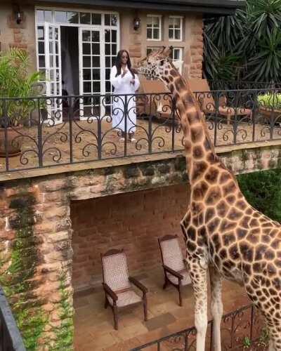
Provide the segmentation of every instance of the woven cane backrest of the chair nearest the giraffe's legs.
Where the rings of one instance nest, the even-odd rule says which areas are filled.
[[[181,251],[178,238],[161,241],[161,249],[164,265],[170,267],[176,272],[179,270],[185,270],[183,253]]]

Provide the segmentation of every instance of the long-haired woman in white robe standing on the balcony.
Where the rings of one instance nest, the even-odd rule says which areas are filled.
[[[112,127],[121,129],[121,141],[125,140],[125,133],[128,133],[129,141],[136,141],[133,138],[133,134],[136,131],[136,99],[133,97],[133,94],[138,90],[140,81],[131,68],[128,51],[120,50],[117,53],[115,66],[110,71],[110,83],[114,86],[116,95],[132,94],[127,95],[126,98],[124,95],[113,98]],[[124,118],[125,99],[127,101],[126,131]]]

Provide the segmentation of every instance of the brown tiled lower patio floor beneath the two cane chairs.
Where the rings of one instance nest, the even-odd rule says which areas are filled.
[[[183,289],[183,307],[178,305],[178,291],[173,286],[162,290],[163,272],[156,270],[138,274],[148,287],[148,322],[143,321],[143,308],[131,307],[119,314],[119,330],[113,327],[112,310],[104,308],[100,286],[74,294],[74,345],[76,351],[128,351],[162,336],[194,325],[194,300],[191,286]],[[224,314],[248,305],[244,288],[223,282]],[[210,317],[210,315],[209,315]],[[150,348],[149,350],[156,350]],[[167,349],[168,350],[168,349]]]

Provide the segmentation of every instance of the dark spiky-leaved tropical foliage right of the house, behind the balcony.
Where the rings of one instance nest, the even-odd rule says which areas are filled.
[[[277,82],[280,68],[281,0],[247,0],[246,8],[234,16],[205,22],[208,79]]]

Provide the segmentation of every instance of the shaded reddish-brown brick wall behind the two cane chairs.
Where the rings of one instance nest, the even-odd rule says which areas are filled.
[[[157,237],[178,234],[186,210],[186,185],[162,187],[97,199],[72,201],[74,289],[101,280],[100,253],[126,251],[129,269],[144,271],[160,264]]]

